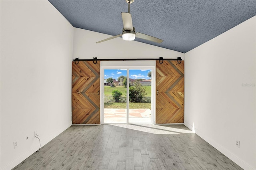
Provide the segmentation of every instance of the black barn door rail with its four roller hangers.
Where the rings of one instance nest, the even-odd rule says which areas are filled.
[[[176,60],[179,64],[182,61],[181,57],[177,57],[177,58],[164,58],[164,57],[159,57],[159,58],[122,58],[122,59],[97,59],[97,57],[93,57],[93,59],[79,59],[79,58],[75,58],[73,61],[75,61],[75,64],[78,64],[79,61],[93,61],[94,64],[97,64],[97,61],[146,61],[146,60],[158,60],[159,63],[163,63],[164,60]]]

